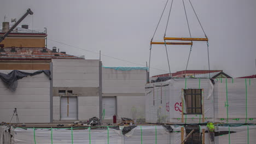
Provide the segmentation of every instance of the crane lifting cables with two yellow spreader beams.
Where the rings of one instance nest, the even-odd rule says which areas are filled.
[[[207,35],[205,33],[205,30],[203,29],[202,25],[201,25],[201,22],[199,20],[199,17],[197,16],[196,14],[196,11],[191,3],[190,0],[187,0],[189,1],[189,4],[191,6],[191,8],[193,9],[194,11],[194,14],[196,15],[196,19],[197,21],[199,22],[200,26],[201,26],[201,29],[202,29],[202,32],[203,34],[205,34],[205,38],[193,38],[191,36],[191,32],[190,32],[190,26],[189,26],[189,21],[188,21],[188,16],[187,16],[187,11],[186,11],[186,8],[185,8],[185,3],[184,3],[184,0],[182,0],[183,2],[183,7],[184,7],[184,12],[185,12],[185,18],[187,20],[187,25],[188,25],[188,31],[189,31],[189,38],[174,38],[174,37],[166,37],[166,31],[167,31],[167,28],[168,28],[168,23],[169,23],[169,20],[170,20],[170,14],[171,14],[171,9],[172,9],[172,5],[173,5],[173,1],[171,2],[171,6],[170,6],[170,10],[168,11],[168,19],[167,19],[167,23],[166,23],[166,27],[165,27],[165,33],[164,33],[164,41],[161,42],[161,41],[153,41],[154,39],[154,36],[155,36],[155,33],[158,29],[158,26],[159,26],[159,23],[162,19],[162,15],[165,13],[165,9],[167,7],[167,4],[169,2],[169,0],[166,1],[166,4],[165,4],[165,7],[164,7],[164,10],[162,10],[162,14],[160,16],[160,19],[159,19],[159,22],[158,22],[158,25],[156,26],[155,28],[155,31],[154,31],[154,34],[153,34],[153,37],[150,41],[150,54],[149,54],[149,70],[150,70],[150,60],[151,60],[151,52],[152,52],[152,45],[156,44],[156,45],[165,45],[165,50],[166,50],[166,56],[167,56],[167,62],[168,62],[168,68],[169,68],[169,73],[170,73],[170,76],[171,76],[171,69],[170,69],[170,63],[169,63],[169,58],[168,58],[168,53],[167,53],[167,46],[166,45],[190,45],[190,51],[189,51],[189,56],[188,56],[188,61],[187,61],[187,65],[186,65],[186,69],[185,71],[187,71],[187,68],[188,68],[188,63],[189,63],[189,58],[190,58],[190,54],[191,54],[191,51],[192,51],[192,46],[193,46],[193,41],[206,41],[207,42],[207,54],[208,54],[208,69],[209,69],[209,78],[210,78],[210,58],[209,58],[209,43],[208,43],[208,38],[207,38]],[[172,40],[171,42],[166,42],[166,40]],[[190,42],[176,42],[176,41],[190,41]],[[186,73],[186,72],[185,72]],[[186,74],[185,74],[186,75]]]

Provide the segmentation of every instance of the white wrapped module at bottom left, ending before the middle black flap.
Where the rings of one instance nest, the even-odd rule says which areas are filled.
[[[124,143],[121,130],[104,127],[104,129],[84,128],[11,128],[15,143]]]

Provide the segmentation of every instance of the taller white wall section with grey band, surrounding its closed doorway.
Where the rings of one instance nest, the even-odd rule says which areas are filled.
[[[54,120],[60,120],[59,90],[72,90],[78,97],[79,120],[99,117],[98,63],[96,59],[53,59]]]

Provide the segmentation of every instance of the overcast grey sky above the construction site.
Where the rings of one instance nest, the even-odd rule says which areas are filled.
[[[170,0],[171,2],[171,0]],[[184,0],[192,37],[203,32]],[[234,77],[256,74],[255,0],[191,0],[210,43],[211,69],[224,70]],[[0,0],[1,27],[7,21],[19,19],[31,8],[34,15],[21,24],[33,29],[48,28],[48,39],[80,47],[103,55],[146,65],[149,43],[166,0]],[[170,8],[170,3],[167,9]],[[154,41],[163,41],[167,13],[162,17]],[[189,37],[181,0],[173,0],[166,37]],[[83,51],[48,40],[48,48],[56,46],[71,55],[98,59],[98,54]],[[190,46],[168,46],[171,72],[184,70]],[[102,56],[108,67],[141,67],[132,63]],[[153,45],[150,75],[168,73],[164,45]],[[153,68],[162,69],[156,70]],[[188,69],[207,69],[206,42],[194,42]]]

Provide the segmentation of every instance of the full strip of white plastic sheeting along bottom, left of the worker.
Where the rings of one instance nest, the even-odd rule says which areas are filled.
[[[162,125],[137,125],[123,135],[122,130],[109,127],[98,128],[10,128],[11,144],[25,143],[181,143],[181,128],[171,125],[169,131]],[[0,127],[6,129],[5,125]],[[121,127],[120,127],[121,128]],[[7,129],[8,131],[8,129]],[[3,137],[3,135],[0,135]],[[184,135],[185,137],[185,135]],[[0,141],[0,144],[9,144]]]

